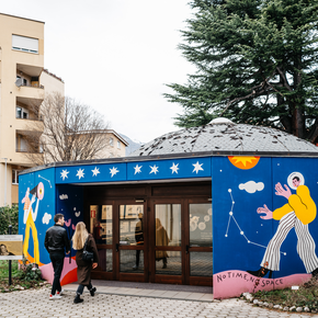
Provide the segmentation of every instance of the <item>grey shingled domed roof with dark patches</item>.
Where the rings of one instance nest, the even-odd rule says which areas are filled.
[[[129,157],[202,151],[311,152],[318,155],[318,147],[274,128],[235,124],[227,118],[216,118],[206,126],[162,135],[141,146]]]

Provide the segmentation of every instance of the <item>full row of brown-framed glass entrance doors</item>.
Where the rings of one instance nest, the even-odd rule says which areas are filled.
[[[116,200],[90,205],[100,262],[93,279],[213,284],[212,204],[203,200]]]

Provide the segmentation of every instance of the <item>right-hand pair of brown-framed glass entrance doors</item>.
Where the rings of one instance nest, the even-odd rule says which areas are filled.
[[[167,201],[150,208],[150,282],[212,286],[212,204]]]

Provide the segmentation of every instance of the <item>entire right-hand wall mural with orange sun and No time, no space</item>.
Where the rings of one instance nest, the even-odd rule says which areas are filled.
[[[284,288],[318,273],[318,179],[310,160],[214,160],[214,209],[219,212],[214,219],[216,298]]]

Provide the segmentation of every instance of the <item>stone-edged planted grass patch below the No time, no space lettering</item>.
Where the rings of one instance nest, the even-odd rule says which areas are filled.
[[[299,289],[292,288],[275,291],[259,291],[252,294],[253,298],[269,304],[282,305],[283,307],[308,307],[310,310],[318,310],[318,281],[310,279],[299,286]]]

